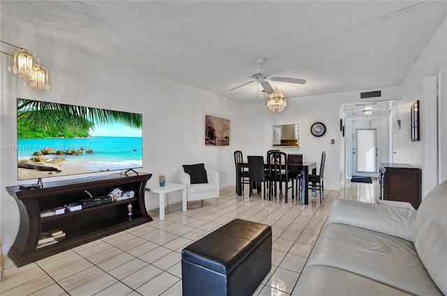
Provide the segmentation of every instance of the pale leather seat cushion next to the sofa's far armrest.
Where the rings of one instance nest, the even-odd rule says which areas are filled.
[[[404,293],[442,295],[420,262],[412,242],[363,228],[344,224],[326,225],[303,273],[314,266],[333,267],[358,274]],[[348,286],[347,279],[339,282]],[[339,288],[344,291],[348,289]]]

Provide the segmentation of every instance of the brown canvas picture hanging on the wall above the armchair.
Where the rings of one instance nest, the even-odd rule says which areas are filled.
[[[205,145],[230,145],[230,120],[225,118],[205,116]]]

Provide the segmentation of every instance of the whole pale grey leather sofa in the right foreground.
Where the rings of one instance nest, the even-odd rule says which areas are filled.
[[[293,295],[446,295],[447,181],[419,209],[339,199]]]

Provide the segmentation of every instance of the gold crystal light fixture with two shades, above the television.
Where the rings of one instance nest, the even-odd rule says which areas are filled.
[[[10,50],[9,54],[2,52],[3,54],[8,54],[9,56],[8,71],[13,72],[20,78],[23,78],[24,86],[28,86],[36,91],[36,93],[49,91],[50,74],[52,84],[53,73],[50,70],[47,70],[47,68],[41,66],[37,54],[31,54],[27,51],[27,49],[17,47],[8,42],[1,42],[15,47],[15,49]],[[12,65],[11,59],[13,60]]]

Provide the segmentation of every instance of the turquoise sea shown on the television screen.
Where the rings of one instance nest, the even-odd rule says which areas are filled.
[[[94,171],[117,170],[142,167],[142,137],[91,137],[75,139],[18,139],[18,159],[29,159],[36,151],[44,148],[54,150],[84,150],[80,155],[60,155],[65,157],[65,165],[82,166]],[[93,153],[86,153],[87,150]],[[56,158],[59,155],[45,155]]]

